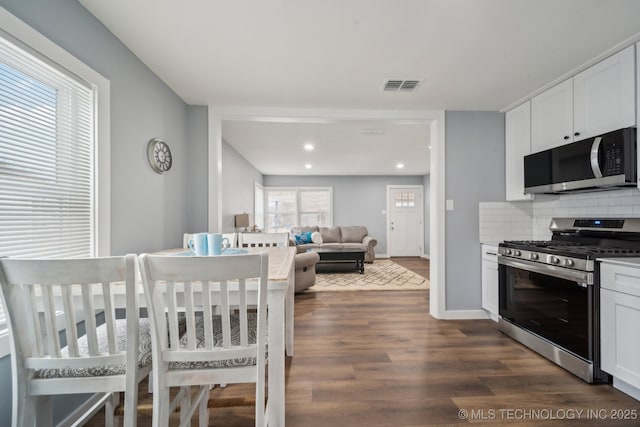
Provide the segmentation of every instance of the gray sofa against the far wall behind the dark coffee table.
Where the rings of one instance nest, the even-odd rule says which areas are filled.
[[[320,233],[321,242],[316,239],[316,242],[296,244],[296,235],[314,232]],[[378,241],[369,236],[367,227],[362,225],[349,227],[292,227],[290,236],[291,244],[297,247],[298,253],[306,252],[309,248],[360,248],[365,251],[365,262],[372,263],[376,258],[373,248],[378,244]]]

